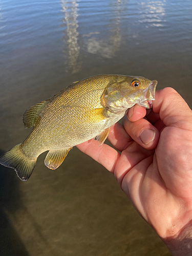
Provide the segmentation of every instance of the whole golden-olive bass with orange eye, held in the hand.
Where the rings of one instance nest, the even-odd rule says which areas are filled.
[[[45,165],[56,169],[73,146],[94,138],[101,145],[110,127],[135,104],[152,108],[156,86],[156,80],[142,76],[101,74],[76,81],[26,110],[24,126],[33,129],[0,163],[27,181],[38,156],[49,151]]]

